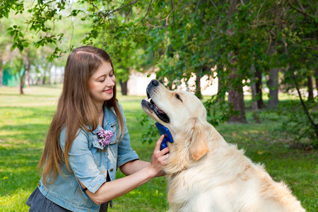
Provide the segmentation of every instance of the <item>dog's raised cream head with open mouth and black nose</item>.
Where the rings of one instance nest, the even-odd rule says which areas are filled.
[[[141,107],[156,122],[166,126],[175,140],[169,143],[170,156],[172,151],[178,151],[177,148],[189,149],[194,160],[205,155],[208,151],[203,124],[206,123],[206,109],[199,98],[187,91],[167,90],[156,80],[149,83],[147,96],[148,100],[142,100]]]

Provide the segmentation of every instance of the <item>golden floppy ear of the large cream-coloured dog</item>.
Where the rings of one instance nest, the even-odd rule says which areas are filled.
[[[208,141],[204,125],[196,122],[193,129],[190,151],[194,160],[199,160],[208,152]]]

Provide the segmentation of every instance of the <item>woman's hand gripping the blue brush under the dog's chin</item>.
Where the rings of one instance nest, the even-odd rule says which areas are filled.
[[[160,151],[160,145],[164,138],[165,136],[160,136],[157,143],[155,143],[155,150],[153,151],[151,163],[148,167],[153,173],[154,177],[165,175],[165,173],[163,173],[163,166],[165,165],[167,158],[169,158],[169,148],[164,148],[162,151]]]

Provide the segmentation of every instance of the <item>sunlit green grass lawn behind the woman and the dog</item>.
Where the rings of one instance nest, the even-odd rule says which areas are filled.
[[[61,86],[31,86],[25,95],[17,88],[0,88],[0,211],[28,211],[25,201],[40,179],[35,167],[40,159],[47,129],[56,110]],[[131,146],[142,160],[150,160],[154,143],[142,143],[146,127],[139,124],[143,97],[120,96]],[[247,98],[248,101],[248,98]],[[221,124],[216,129],[229,143],[237,143],[246,155],[263,163],[276,180],[293,190],[307,211],[318,211],[318,152],[290,148],[293,135],[277,131],[279,119],[254,124],[247,102],[249,124]],[[117,172],[117,177],[123,177]],[[109,211],[167,211],[165,178],[155,178],[115,199]]]

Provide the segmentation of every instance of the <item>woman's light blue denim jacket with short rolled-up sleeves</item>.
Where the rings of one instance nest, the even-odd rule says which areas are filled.
[[[100,125],[93,132],[81,130],[73,141],[69,151],[69,165],[71,173],[64,171],[66,176],[58,173],[57,179],[52,184],[42,183],[38,185],[40,192],[53,201],[70,211],[99,211],[100,206],[95,204],[86,192],[83,192],[80,180],[90,192],[95,193],[100,186],[106,182],[107,172],[110,179],[116,177],[117,167],[130,160],[139,159],[135,151],[132,150],[126,118],[119,104],[124,119],[124,137],[122,141],[117,140],[119,125],[114,108],[104,107],[104,129],[114,133],[112,142],[102,148],[98,143],[98,131],[102,129]],[[61,149],[64,149],[65,129],[60,134]]]

